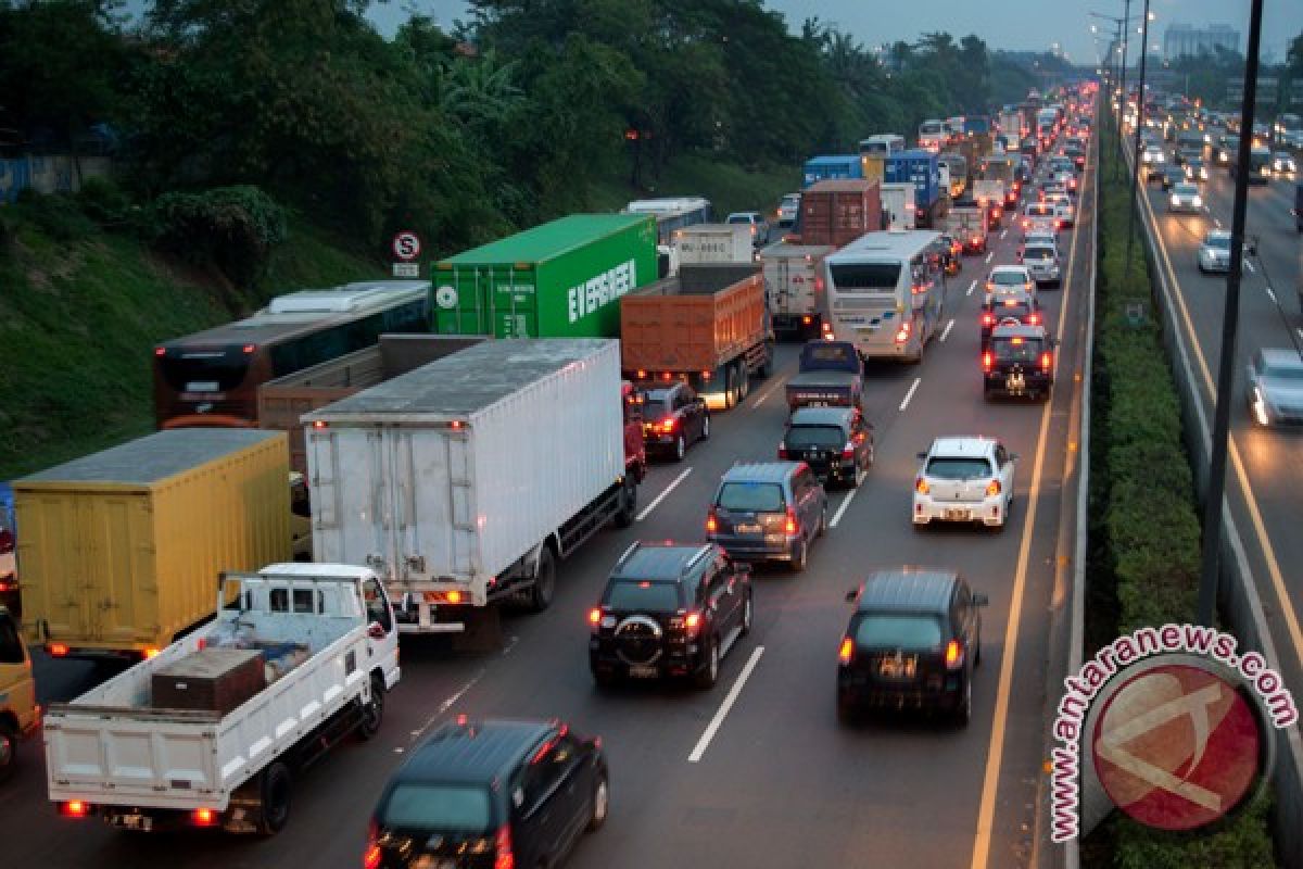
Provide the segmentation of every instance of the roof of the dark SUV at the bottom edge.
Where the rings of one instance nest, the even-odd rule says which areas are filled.
[[[392,780],[474,782],[503,779],[555,722],[476,719],[446,722],[408,754]]]

